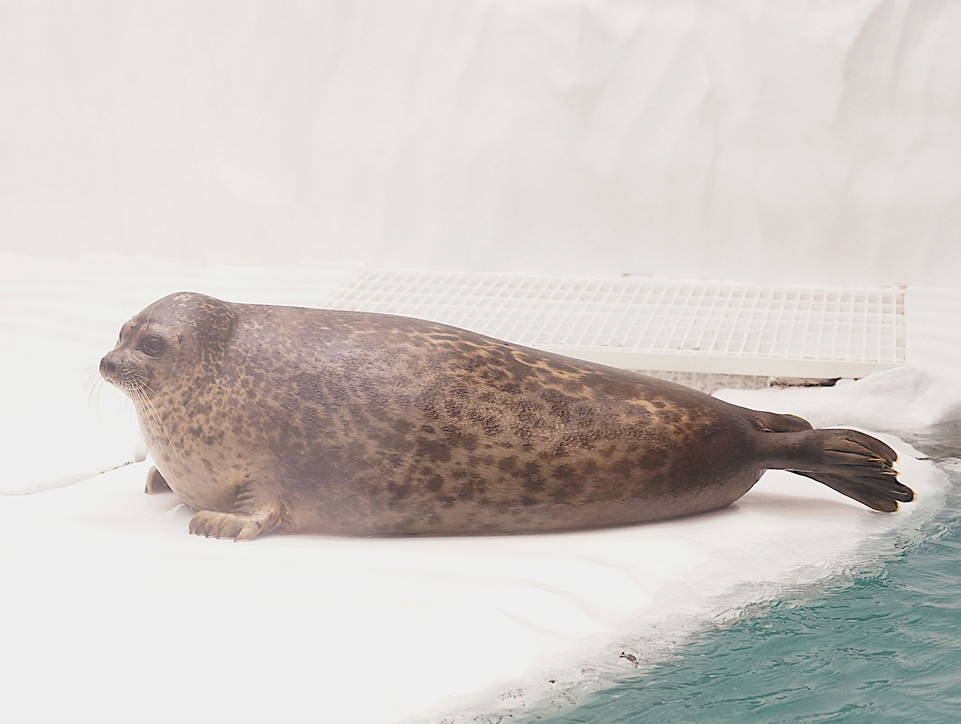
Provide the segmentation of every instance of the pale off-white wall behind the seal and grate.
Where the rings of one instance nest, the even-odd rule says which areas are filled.
[[[0,3],[0,244],[961,286],[961,2]]]

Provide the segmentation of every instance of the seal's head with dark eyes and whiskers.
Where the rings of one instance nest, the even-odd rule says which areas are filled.
[[[230,340],[234,308],[194,292],[154,302],[120,327],[100,374],[131,398],[173,392],[213,374]]]

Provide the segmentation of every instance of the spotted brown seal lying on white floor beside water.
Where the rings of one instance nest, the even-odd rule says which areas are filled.
[[[723,508],[763,471],[878,511],[889,446],[672,382],[365,312],[164,297],[100,363],[190,532],[534,533]]]

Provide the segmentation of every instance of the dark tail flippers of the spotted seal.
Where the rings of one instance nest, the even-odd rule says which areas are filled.
[[[892,513],[914,492],[898,482],[891,447],[857,430],[821,429],[772,433],[768,467],[795,472],[824,483],[877,511]]]

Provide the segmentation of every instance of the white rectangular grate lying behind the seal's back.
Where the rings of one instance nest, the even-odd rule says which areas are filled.
[[[629,369],[856,377],[904,362],[899,289],[372,270],[332,306]]]

